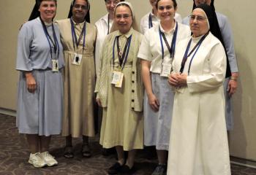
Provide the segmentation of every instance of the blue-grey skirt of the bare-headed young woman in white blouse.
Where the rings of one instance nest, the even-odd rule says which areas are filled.
[[[167,77],[151,74],[151,85],[160,106],[154,112],[148,104],[148,97],[144,97],[144,144],[156,146],[157,150],[168,150],[170,140],[170,125],[173,116],[174,93],[168,84]]]

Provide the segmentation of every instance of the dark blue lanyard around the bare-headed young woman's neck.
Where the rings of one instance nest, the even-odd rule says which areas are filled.
[[[172,43],[171,43],[171,47],[170,47],[170,45],[168,44],[167,39],[165,37],[165,34],[162,33],[162,31],[160,30],[160,25],[159,25],[159,38],[160,38],[161,47],[162,47],[162,60],[164,60],[164,57],[165,57],[164,45],[162,44],[162,37],[165,40],[165,45],[170,52],[170,58],[174,58],[175,49],[176,49],[177,33],[178,33],[178,23],[176,23],[176,28],[173,33],[173,39],[172,39]]]

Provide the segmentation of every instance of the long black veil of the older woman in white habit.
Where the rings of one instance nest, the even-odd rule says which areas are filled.
[[[207,18],[208,18],[208,22],[210,24],[210,31],[211,34],[213,34],[215,37],[217,37],[217,39],[219,39],[219,41],[222,43],[224,49],[225,49],[225,54],[227,57],[227,69],[226,69],[226,77],[230,77],[231,76],[231,71],[230,71],[230,63],[228,61],[228,56],[227,56],[227,50],[225,47],[225,42],[222,38],[222,32],[220,31],[219,28],[219,23],[218,23],[218,19],[217,19],[217,15],[215,12],[215,8],[214,8],[214,0],[211,0],[211,5],[208,6],[207,4],[199,4],[197,7],[195,7],[195,0],[194,0],[194,4],[193,4],[193,10],[195,8],[200,8],[203,9],[204,12],[206,12]]]

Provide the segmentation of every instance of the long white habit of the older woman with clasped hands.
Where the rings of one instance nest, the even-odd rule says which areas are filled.
[[[192,39],[190,50],[198,40]],[[173,61],[176,73],[188,42],[185,39],[178,44]],[[184,66],[186,74],[192,55]],[[225,72],[225,50],[210,33],[192,60],[187,88],[176,89],[167,174],[230,175],[222,87]]]

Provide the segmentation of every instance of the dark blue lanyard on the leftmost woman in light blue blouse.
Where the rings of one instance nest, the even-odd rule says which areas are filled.
[[[58,50],[58,57],[56,59],[59,58],[59,42],[58,42],[58,39],[57,39],[57,36],[56,36],[56,33],[55,33],[55,29],[54,29],[54,26],[53,26],[53,23],[52,23],[52,29],[53,29],[53,39],[54,39],[54,42],[53,42],[53,39],[50,37],[50,34],[48,33],[47,31],[47,28],[45,26],[45,23],[42,21],[41,18],[39,18],[41,23],[42,23],[42,28],[43,28],[43,31],[45,32],[45,36],[46,36],[46,39],[48,41],[48,44],[49,44],[49,47],[50,47],[50,58],[53,60],[53,50],[51,48],[51,44],[50,42],[53,44],[53,47],[54,47],[54,53],[56,55],[56,52]]]

